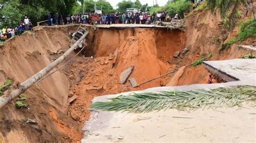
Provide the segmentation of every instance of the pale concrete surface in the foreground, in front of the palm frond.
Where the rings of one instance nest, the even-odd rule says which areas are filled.
[[[255,142],[255,115],[246,108],[100,112],[93,123],[98,127],[82,142]]]

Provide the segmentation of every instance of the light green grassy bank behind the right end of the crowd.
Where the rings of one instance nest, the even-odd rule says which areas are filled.
[[[170,16],[174,16],[176,15],[176,13],[179,14],[180,17],[183,18],[183,12],[190,12],[190,2],[187,2],[185,0],[177,0],[175,3],[168,3],[165,6],[161,6],[161,7],[154,7],[150,9],[150,14],[152,14],[153,12],[163,12],[166,11],[169,13]]]

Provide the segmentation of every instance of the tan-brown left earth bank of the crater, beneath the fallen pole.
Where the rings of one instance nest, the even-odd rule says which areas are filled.
[[[7,78],[23,82],[49,65],[50,53],[68,49],[69,33],[76,28],[42,28],[6,42],[0,48],[0,84]],[[3,142],[78,141],[82,137],[77,128],[79,123],[65,116],[69,87],[68,78],[57,71],[25,92],[28,108],[17,109],[15,102],[8,104],[0,113],[0,139]],[[27,119],[35,119],[36,124],[26,123]]]

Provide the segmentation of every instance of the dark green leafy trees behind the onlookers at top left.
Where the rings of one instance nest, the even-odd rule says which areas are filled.
[[[31,22],[35,25],[39,20],[45,20],[47,14],[51,12],[59,15],[72,14],[72,10],[77,6],[76,0],[45,0],[45,1],[33,1],[33,0],[4,0],[5,6],[0,10],[0,21],[2,26],[17,26],[19,22],[23,21],[25,16],[31,19]],[[3,18],[4,17],[4,18]]]

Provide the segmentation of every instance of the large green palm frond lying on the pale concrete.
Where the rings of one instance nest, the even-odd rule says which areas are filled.
[[[128,111],[145,113],[167,109],[195,110],[241,106],[242,102],[256,99],[256,87],[244,85],[217,89],[188,91],[159,91],[157,93],[130,94],[110,98],[109,102],[95,102],[92,110]]]

